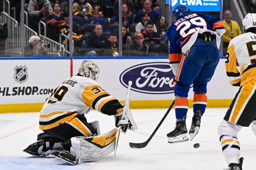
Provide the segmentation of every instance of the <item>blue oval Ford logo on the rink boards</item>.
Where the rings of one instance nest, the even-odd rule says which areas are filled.
[[[124,70],[119,80],[131,90],[148,94],[167,94],[174,92],[172,69],[167,62],[143,63]]]

